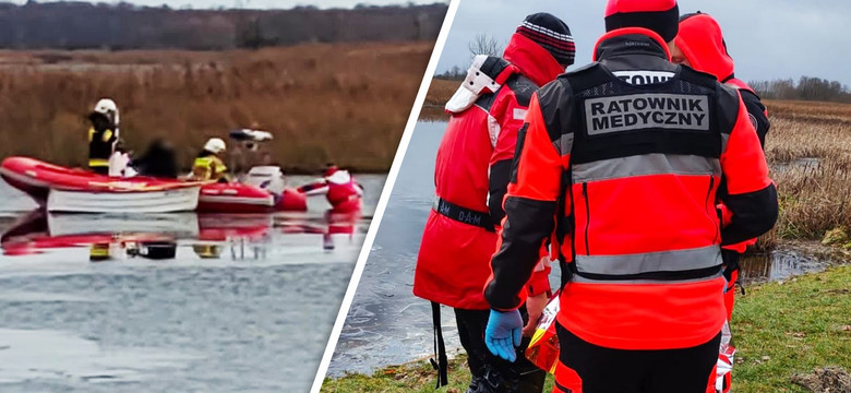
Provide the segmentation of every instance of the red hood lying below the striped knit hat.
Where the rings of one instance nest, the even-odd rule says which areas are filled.
[[[564,73],[564,68],[547,49],[517,33],[512,35],[502,57],[517,66],[520,73],[539,86],[552,82],[555,76]]]

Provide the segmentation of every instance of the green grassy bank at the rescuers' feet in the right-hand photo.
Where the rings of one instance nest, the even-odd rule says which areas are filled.
[[[795,374],[814,368],[851,369],[851,266],[832,267],[786,283],[748,288],[739,297],[733,315],[739,348],[733,373],[736,393],[807,392],[794,384]],[[453,360],[445,392],[464,392],[469,374],[464,358]],[[327,379],[327,393],[433,392],[435,373],[425,361],[388,367],[373,376]],[[548,381],[546,391],[552,388]]]

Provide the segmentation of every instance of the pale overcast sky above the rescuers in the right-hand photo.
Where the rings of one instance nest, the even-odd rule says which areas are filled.
[[[466,69],[467,44],[477,34],[501,43],[530,13],[564,20],[576,39],[576,64],[588,63],[604,32],[604,0],[460,0],[438,73]],[[680,12],[712,14],[724,32],[742,80],[801,75],[851,85],[851,1],[849,0],[680,0]]]

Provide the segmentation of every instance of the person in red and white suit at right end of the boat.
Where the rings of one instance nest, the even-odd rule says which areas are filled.
[[[353,213],[362,207],[363,187],[355,181],[348,170],[328,164],[322,178],[299,187],[307,195],[325,194],[333,213]]]

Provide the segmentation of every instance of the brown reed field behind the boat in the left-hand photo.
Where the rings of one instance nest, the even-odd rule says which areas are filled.
[[[273,131],[288,168],[329,160],[385,171],[432,43],[310,44],[231,51],[0,51],[0,157],[80,166],[85,116],[100,97],[142,153],[157,136],[187,166],[204,141],[235,128]]]

